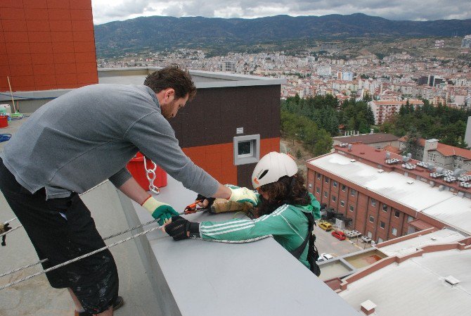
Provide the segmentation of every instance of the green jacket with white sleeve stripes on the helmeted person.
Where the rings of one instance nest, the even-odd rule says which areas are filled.
[[[201,222],[200,236],[202,239],[227,241],[243,241],[260,236],[272,235],[287,251],[299,247],[307,237],[307,217],[303,214],[311,212],[314,219],[321,218],[321,204],[311,196],[308,206],[292,206],[285,204],[273,213],[263,215],[255,220],[228,220],[226,222]],[[299,261],[309,268],[307,262],[308,245],[299,257]]]

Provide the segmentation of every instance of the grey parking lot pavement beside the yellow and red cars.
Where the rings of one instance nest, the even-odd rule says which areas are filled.
[[[353,239],[347,238],[343,241],[340,241],[332,236],[330,234],[331,232],[332,230],[325,232],[325,230],[319,228],[318,226],[314,227],[314,234],[316,234],[316,247],[319,251],[319,254],[330,253],[334,257],[337,257],[371,247],[370,244],[364,243],[359,237]]]

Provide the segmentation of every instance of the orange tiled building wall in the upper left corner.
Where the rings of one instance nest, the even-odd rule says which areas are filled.
[[[0,91],[98,83],[91,0],[1,0],[0,22]]]

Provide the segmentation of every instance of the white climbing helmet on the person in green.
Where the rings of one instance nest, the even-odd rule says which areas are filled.
[[[277,182],[280,177],[285,175],[292,177],[296,173],[297,165],[291,156],[272,151],[263,156],[255,166],[252,173],[252,185],[254,189],[257,189],[264,184]]]

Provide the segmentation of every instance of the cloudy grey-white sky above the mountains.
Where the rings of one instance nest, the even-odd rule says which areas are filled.
[[[471,18],[470,0],[91,0],[95,24],[139,16],[260,18],[365,13],[389,20]]]

